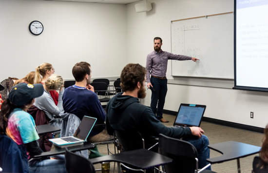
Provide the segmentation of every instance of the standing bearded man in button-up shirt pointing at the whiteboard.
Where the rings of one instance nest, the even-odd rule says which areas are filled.
[[[168,60],[193,60],[196,62],[196,60],[199,59],[184,55],[174,55],[169,52],[162,51],[161,46],[162,39],[160,37],[153,38],[154,51],[147,56],[146,78],[147,87],[152,89],[151,109],[153,114],[156,115],[156,118],[161,122],[169,122],[163,118],[163,108],[168,91],[168,79],[166,77]]]

